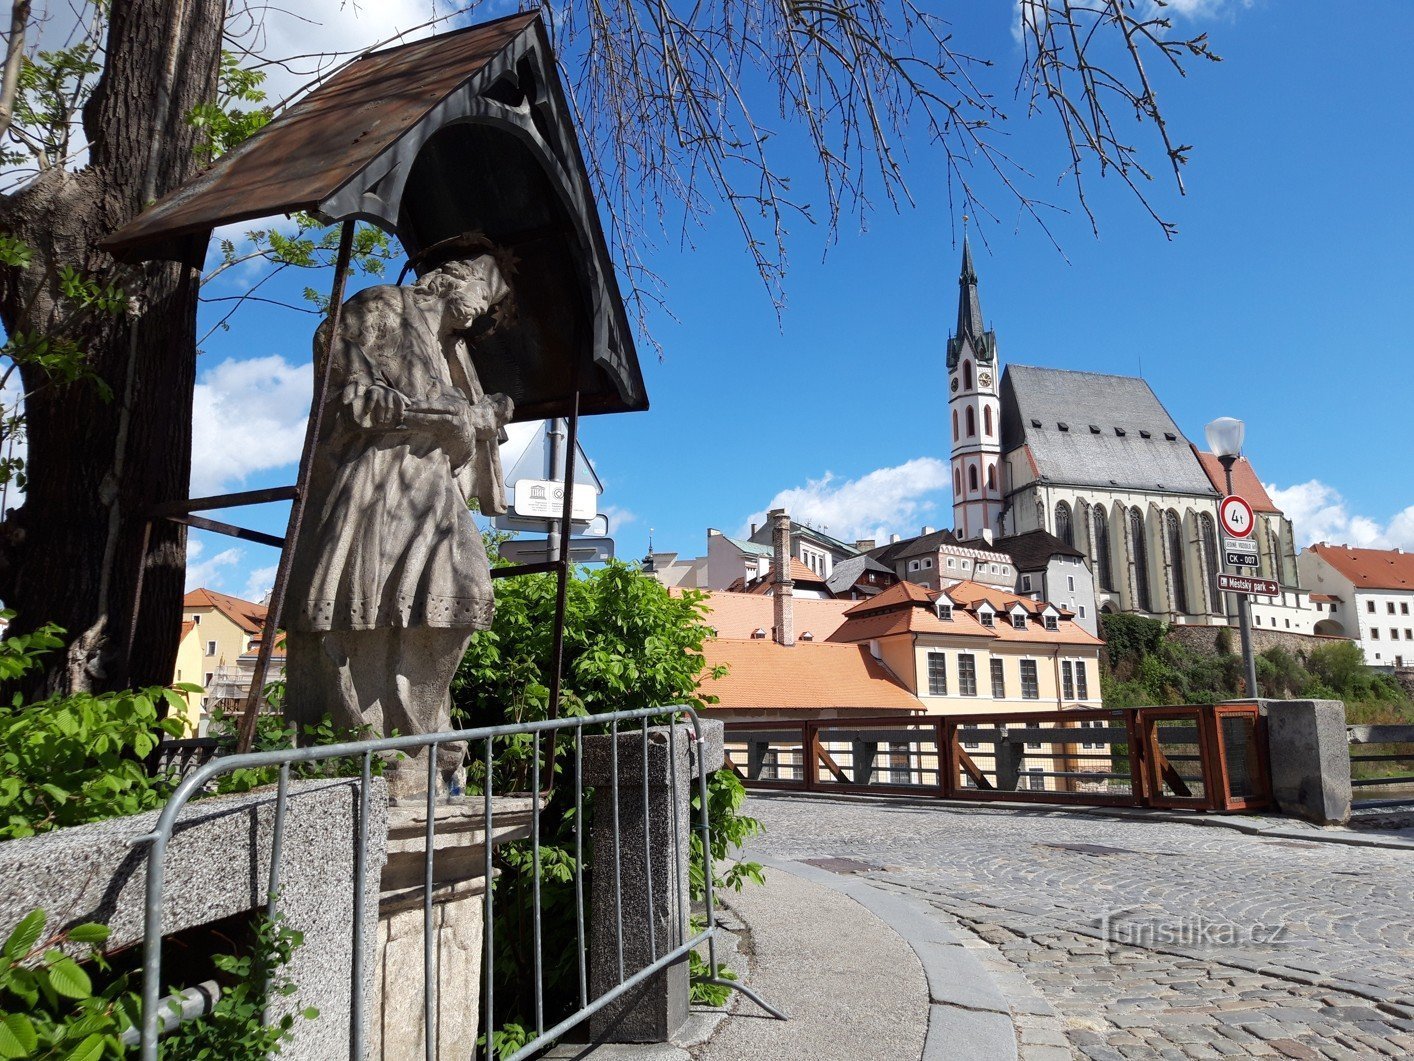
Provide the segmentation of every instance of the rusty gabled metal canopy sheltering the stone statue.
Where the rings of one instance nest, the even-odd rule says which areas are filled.
[[[479,233],[518,260],[516,318],[474,344],[516,419],[648,407],[614,263],[540,17],[370,52],[103,240],[199,267],[218,225],[361,219],[416,260]]]

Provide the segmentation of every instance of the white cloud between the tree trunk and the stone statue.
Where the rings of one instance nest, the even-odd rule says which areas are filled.
[[[192,403],[192,497],[240,487],[257,471],[300,458],[310,412],[310,368],[279,355],[209,369]]]

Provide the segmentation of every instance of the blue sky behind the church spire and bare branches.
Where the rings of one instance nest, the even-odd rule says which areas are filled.
[[[1012,4],[953,7],[959,40],[995,57],[987,76],[1010,96]],[[1117,181],[1092,178],[1093,235],[1056,187],[1051,120],[1014,117],[1007,146],[1034,174],[1028,190],[1069,212],[1048,214],[1062,253],[987,192],[997,219],[971,231],[1003,364],[1143,372],[1193,440],[1216,416],[1247,422],[1247,451],[1302,543],[1414,547],[1414,137],[1393,44],[1414,34],[1414,4],[1174,10],[1225,59],[1161,82],[1176,139],[1193,144],[1184,198],[1150,156],[1155,204],[1179,232],[1167,240]],[[783,161],[807,175],[783,140]],[[649,528],[656,547],[699,555],[708,526],[737,532],[782,502],[841,538],[950,525],[943,349],[960,218],[937,153],[909,151],[915,208],[884,207],[867,232],[846,222],[833,243],[795,226],[779,318],[724,216],[653,253],[673,314],[653,321],[662,359],[639,349],[653,407],[583,426],[621,556],[642,556]],[[293,480],[311,321],[245,310],[205,344],[194,489]],[[283,525],[274,509],[242,518]],[[191,559],[194,584],[250,594],[274,563],[205,535]]]

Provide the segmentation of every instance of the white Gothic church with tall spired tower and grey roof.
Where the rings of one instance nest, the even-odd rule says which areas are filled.
[[[1184,437],[1143,379],[1003,369],[966,240],[959,286],[957,334],[947,342],[959,536],[1044,530],[1089,560],[1100,611],[1234,622],[1233,597],[1217,589],[1217,458]],[[1321,615],[1302,593],[1291,521],[1244,458],[1233,487],[1257,514],[1258,573],[1282,587],[1280,597],[1253,600],[1254,625],[1312,632]]]

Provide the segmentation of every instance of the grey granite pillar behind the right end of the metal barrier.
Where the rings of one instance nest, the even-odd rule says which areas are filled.
[[[618,737],[617,845],[614,738],[601,734],[584,740],[584,784],[594,788],[591,999],[621,983],[621,948],[628,979],[687,939],[691,782],[699,770],[711,772],[724,761],[721,723],[703,720],[701,727],[703,747],[691,740],[690,724],[649,727],[646,757],[642,730],[624,727]],[[687,1020],[687,990],[683,956],[594,1014],[590,1034],[595,1043],[666,1043]]]

